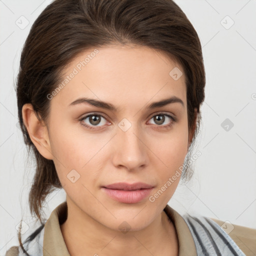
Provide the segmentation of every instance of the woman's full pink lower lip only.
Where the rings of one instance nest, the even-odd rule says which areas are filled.
[[[147,197],[153,188],[143,188],[137,190],[120,190],[120,189],[110,189],[102,187],[102,189],[113,199],[119,202],[125,203],[135,203],[139,202],[145,197]]]

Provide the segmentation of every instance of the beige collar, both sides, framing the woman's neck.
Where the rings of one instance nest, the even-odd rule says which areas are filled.
[[[185,220],[168,204],[164,211],[173,222],[179,243],[178,256],[196,255],[193,237]],[[67,204],[66,201],[60,203],[50,214],[44,225],[43,235],[43,256],[61,255],[70,256],[64,238],[62,236],[60,225],[66,220]]]

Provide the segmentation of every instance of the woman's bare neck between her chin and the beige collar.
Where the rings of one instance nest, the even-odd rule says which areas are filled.
[[[164,211],[141,230],[121,232],[102,225],[70,203],[60,229],[72,256],[178,255],[175,227]]]

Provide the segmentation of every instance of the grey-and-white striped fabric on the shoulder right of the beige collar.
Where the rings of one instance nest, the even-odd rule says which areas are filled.
[[[184,214],[183,218],[191,231],[198,255],[245,256],[241,248],[221,228],[219,223],[205,216],[193,216],[188,213]]]

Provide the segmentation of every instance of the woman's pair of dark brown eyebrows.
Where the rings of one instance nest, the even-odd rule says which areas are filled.
[[[157,107],[161,107],[161,106],[165,106],[168,105],[170,103],[181,103],[181,105],[184,107],[184,102],[176,97],[176,96],[171,96],[169,98],[166,99],[162,99],[160,101],[155,101],[150,103],[149,105],[146,106],[146,109],[153,109],[153,108],[157,108]],[[77,98],[76,100],[74,100],[73,102],[71,102],[69,105],[77,105],[77,104],[90,104],[96,107],[100,107],[100,108],[104,108],[104,109],[108,109],[111,111],[118,111],[118,108],[115,107],[113,104],[111,103],[107,103],[101,100],[97,100],[97,99],[93,99],[93,98],[87,98],[87,97],[80,97]]]

